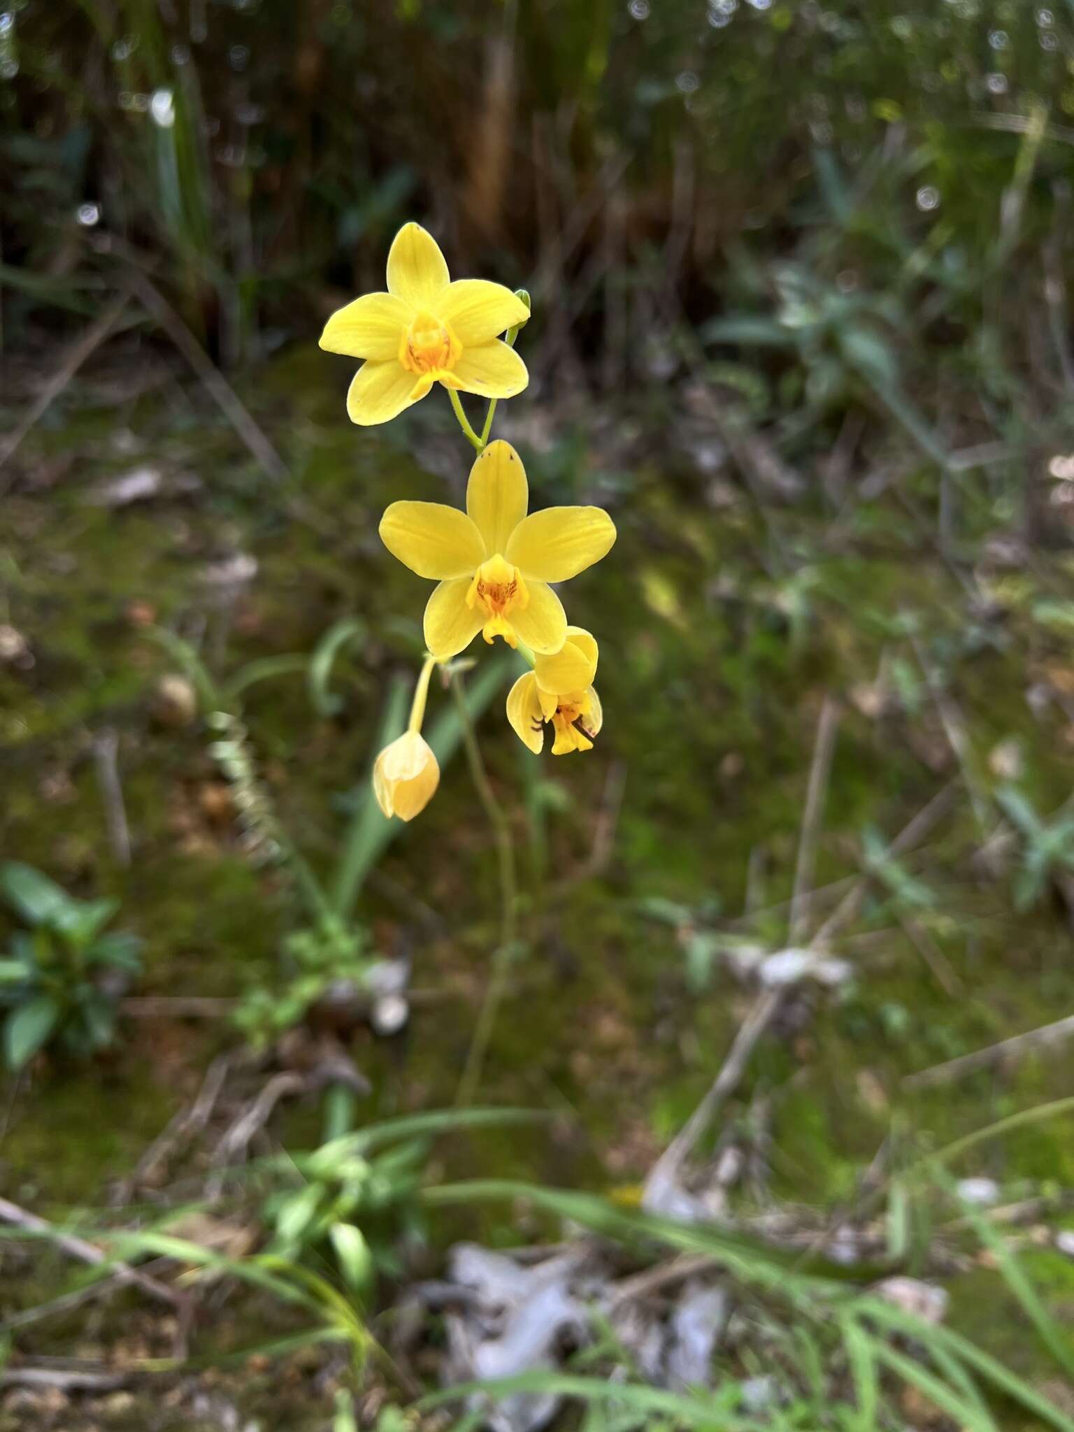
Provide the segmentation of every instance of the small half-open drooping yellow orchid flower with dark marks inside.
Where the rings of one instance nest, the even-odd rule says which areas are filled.
[[[523,745],[538,755],[544,723],[551,722],[553,756],[591,750],[591,737],[604,720],[593,689],[596,674],[597,643],[581,627],[567,627],[563,649],[554,656],[537,656],[533,670],[520,676],[507,695],[507,719]]]

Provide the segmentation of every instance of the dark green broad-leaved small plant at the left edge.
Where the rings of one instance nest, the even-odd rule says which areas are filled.
[[[32,865],[0,865],[0,895],[29,927],[0,959],[4,1060],[20,1070],[50,1041],[73,1054],[112,1042],[117,997],[140,968],[139,942],[105,927],[116,899],[76,899]]]

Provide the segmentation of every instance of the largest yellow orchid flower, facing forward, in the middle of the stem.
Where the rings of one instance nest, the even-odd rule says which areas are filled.
[[[425,607],[425,646],[438,662],[478,632],[543,656],[567,637],[563,603],[548,586],[610,551],[616,528],[601,507],[547,507],[526,516],[526,468],[510,442],[490,442],[470,470],[467,510],[392,503],[381,541],[420,577],[440,581]]]

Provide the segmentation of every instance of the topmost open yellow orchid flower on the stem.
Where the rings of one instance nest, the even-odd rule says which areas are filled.
[[[404,223],[388,252],[388,292],[364,294],[325,324],[321,347],[364,358],[347,394],[352,422],[387,422],[424,398],[434,382],[481,398],[513,398],[530,381],[500,334],[530,311],[503,284],[451,282],[440,245]]]

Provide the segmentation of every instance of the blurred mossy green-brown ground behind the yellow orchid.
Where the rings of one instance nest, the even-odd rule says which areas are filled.
[[[367,779],[388,677],[420,649],[427,586],[381,550],[379,511],[398,495],[458,501],[463,493],[467,450],[445,424],[420,412],[384,434],[351,430],[335,395],[314,382],[312,362],[305,351],[289,357],[258,394],[265,412],[274,404],[286,412],[286,437],[274,431],[288,480],[259,474],[212,414],[199,408],[196,421],[189,411],[179,421],[140,400],[122,417],[57,411],[27,440],[21,470],[33,478],[69,453],[74,464],[53,487],[34,491],[30,481],[6,504],[0,616],[27,637],[34,662],[0,667],[0,851],[77,894],[122,896],[122,924],[145,939],[139,994],[229,998],[272,984],[294,918],[285,882],[251,868],[231,819],[205,796],[216,780],[205,730],[153,717],[152,690],[170,663],[146,637],[146,620],[200,640],[223,674],[255,657],[309,652],[334,620],[362,619],[364,643],[337,666],[345,699],[337,719],[318,717],[291,676],[255,687],[243,713],[286,828],[324,868],[341,829],[334,802]],[[407,455],[410,438],[430,465],[451,454],[453,475]],[[762,516],[745,497],[712,503],[696,474],[667,471],[652,454],[627,478],[584,440],[571,463],[520,445],[537,504],[596,495],[619,526],[611,556],[569,590],[571,620],[600,637],[606,727],[596,755],[527,768],[498,709],[481,722],[516,823],[527,937],[483,1098],[561,1117],[556,1137],[468,1137],[448,1150],[445,1167],[604,1190],[644,1176],[720,1067],[752,998],[720,965],[706,987],[692,987],[676,932],[644,901],[737,916],[753,868],[763,876],[752,889],[762,911],[755,934],[779,948],[785,914],[763,911],[792,888],[826,692],[842,713],[816,884],[859,868],[863,828],[891,839],[954,780],[952,813],[915,865],[935,892],[921,918],[951,982],[945,988],[922,959],[891,901],[871,896],[839,951],[855,965],[849,987],[811,994],[813,1018],[762,1044],[746,1080],[743,1097],[758,1087],[772,1095],[775,1193],[835,1210],[855,1194],[892,1120],[919,1151],[1067,1093],[1061,1053],[928,1094],[901,1083],[1074,1002],[1063,911],[1047,901],[1015,911],[1010,875],[974,865],[982,835],[929,693],[919,672],[914,677],[915,643],[948,674],[972,779],[995,785],[988,755],[1014,737],[1024,786],[1042,809],[1065,793],[1070,726],[1057,703],[1034,716],[1025,693],[1042,670],[1061,683],[1063,643],[1028,620],[1024,600],[971,617],[951,564],[922,546],[892,498],[862,504],[833,540],[819,500]],[[166,478],[193,473],[200,487],[119,510],[87,503],[97,481],[142,463]],[[958,564],[992,521],[984,498],[967,507]],[[256,557],[258,573],[223,600],[205,569],[236,550]],[[1042,556],[1034,581],[1047,590],[1063,580],[1061,560]],[[884,710],[852,699],[879,670],[898,697]],[[901,687],[892,672],[902,673]],[[129,869],[106,836],[90,753],[102,727],[120,733]],[[614,845],[587,876],[611,763],[624,782]],[[374,1080],[368,1114],[450,1104],[468,1048],[497,909],[491,839],[461,760],[382,872],[390,884],[367,894],[362,918],[385,949],[411,951],[414,984],[435,998],[415,1010],[404,1037],[361,1037],[352,1050]],[[441,934],[408,919],[408,895],[441,916]],[[208,1058],[235,1038],[226,1021],[139,1018],[125,1021],[116,1048],[93,1064],[40,1061],[10,1094],[3,1186],[44,1211],[97,1204],[192,1095]],[[312,1118],[291,1116],[284,1138],[308,1136]],[[965,1171],[1005,1186],[1071,1186],[1068,1130],[1040,1123],[981,1144]],[[504,1214],[503,1226],[470,1232],[507,1242],[511,1224]],[[1054,1253],[1035,1260],[1068,1316],[1068,1264]],[[17,1300],[40,1292],[34,1279]],[[957,1283],[952,1317],[1021,1372],[1045,1375],[995,1274]],[[49,1346],[44,1327],[33,1333],[39,1350]]]

